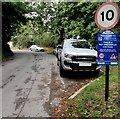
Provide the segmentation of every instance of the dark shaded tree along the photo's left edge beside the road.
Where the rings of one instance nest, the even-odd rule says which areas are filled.
[[[26,23],[25,13],[28,11],[28,3],[22,2],[3,2],[2,3],[2,54],[4,57],[13,55],[7,42],[11,40],[11,36],[16,32],[18,24]]]

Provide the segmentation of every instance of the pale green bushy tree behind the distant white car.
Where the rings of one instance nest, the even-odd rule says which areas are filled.
[[[20,29],[12,36],[13,45],[19,49],[28,48],[30,45],[50,47],[56,36],[45,31],[40,24],[29,20],[26,25],[20,24]]]

